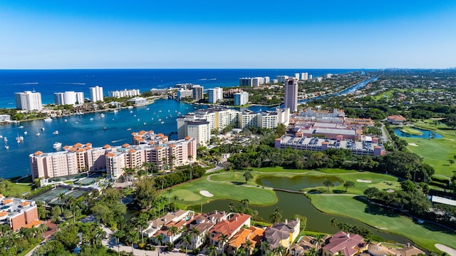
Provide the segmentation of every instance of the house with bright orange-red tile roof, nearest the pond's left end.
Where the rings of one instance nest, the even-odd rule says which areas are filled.
[[[242,227],[250,227],[251,217],[243,213],[229,213],[227,220],[218,222],[209,230],[209,243],[217,246],[221,253],[223,241],[219,240],[220,235],[227,235],[228,239],[231,239]]]

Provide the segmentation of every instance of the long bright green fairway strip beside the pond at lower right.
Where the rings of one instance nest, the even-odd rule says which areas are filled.
[[[404,235],[427,250],[437,251],[436,243],[456,248],[454,232],[432,230],[432,227],[418,225],[408,217],[397,215],[375,206],[368,207],[351,196],[309,195],[312,205],[325,213],[345,215],[361,220],[368,225]]]

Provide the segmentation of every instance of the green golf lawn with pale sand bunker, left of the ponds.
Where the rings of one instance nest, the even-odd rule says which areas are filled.
[[[231,181],[231,180],[229,180]],[[201,190],[207,190],[212,193],[212,197],[207,198],[199,193]],[[167,198],[167,191],[161,195]],[[243,200],[249,199],[252,205],[271,205],[276,203],[276,194],[272,190],[265,190],[262,188],[245,187],[242,185],[235,185],[234,183],[214,183],[208,182],[206,177],[192,180],[191,183],[184,183],[172,188],[170,193],[171,198],[177,195],[180,200],[185,200],[185,203],[200,203],[201,199],[204,203],[217,199],[232,199]]]

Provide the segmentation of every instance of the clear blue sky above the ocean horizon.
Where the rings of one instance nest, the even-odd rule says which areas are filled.
[[[448,68],[456,1],[0,0],[0,69]]]

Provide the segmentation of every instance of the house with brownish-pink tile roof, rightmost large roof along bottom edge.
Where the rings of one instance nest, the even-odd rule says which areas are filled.
[[[339,231],[329,239],[328,244],[321,248],[321,255],[333,256],[338,255],[338,252],[341,251],[345,256],[353,256],[363,252],[367,247],[368,245],[361,235]]]

